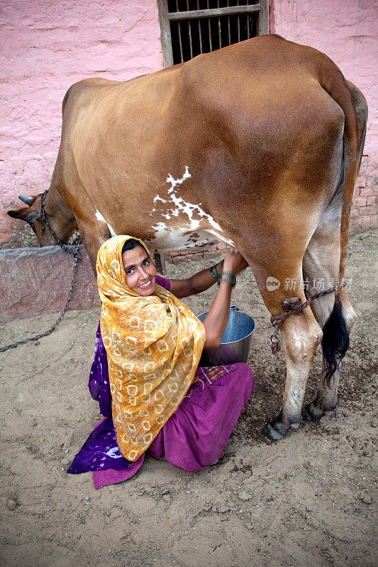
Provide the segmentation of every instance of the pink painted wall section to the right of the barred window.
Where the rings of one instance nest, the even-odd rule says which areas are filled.
[[[363,92],[369,106],[351,226],[377,226],[378,9],[374,0],[270,0],[270,32],[316,47]]]

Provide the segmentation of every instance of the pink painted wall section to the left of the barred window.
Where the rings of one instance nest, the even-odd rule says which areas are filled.
[[[130,79],[164,66],[155,0],[2,0],[0,242],[21,229],[6,210],[50,185],[61,104],[86,77]]]

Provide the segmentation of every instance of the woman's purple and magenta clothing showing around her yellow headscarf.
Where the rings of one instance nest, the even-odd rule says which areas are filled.
[[[157,283],[169,289],[169,280],[157,276]],[[176,412],[162,427],[148,451],[165,456],[174,466],[186,471],[200,471],[216,461],[247,403],[254,380],[248,364],[230,364],[199,368],[194,382]],[[89,376],[89,391],[99,400],[105,416],[74,457],[67,473],[92,471],[94,488],[126,481],[142,466],[145,454],[137,461],[127,461],[116,441],[111,417],[106,349],[100,327],[96,335],[96,353]]]

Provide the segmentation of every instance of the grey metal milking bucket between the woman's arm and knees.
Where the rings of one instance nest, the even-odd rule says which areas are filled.
[[[209,313],[198,315],[200,321]],[[255,330],[255,321],[239,311],[235,305],[230,307],[230,315],[225,332],[223,332],[219,347],[204,349],[199,366],[219,366],[220,364],[235,364],[235,362],[247,362],[252,332]]]

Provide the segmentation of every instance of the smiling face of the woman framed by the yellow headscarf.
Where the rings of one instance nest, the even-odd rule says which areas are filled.
[[[147,297],[155,291],[156,268],[145,249],[136,246],[122,254],[126,283],[131,291]]]

